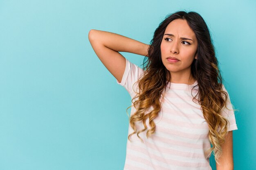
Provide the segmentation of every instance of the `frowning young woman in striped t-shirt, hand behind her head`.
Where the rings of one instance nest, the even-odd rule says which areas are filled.
[[[217,170],[233,169],[238,128],[200,14],[166,16],[150,45],[98,30],[89,40],[132,97],[125,170],[211,170],[212,151]],[[145,56],[143,69],[119,52]]]

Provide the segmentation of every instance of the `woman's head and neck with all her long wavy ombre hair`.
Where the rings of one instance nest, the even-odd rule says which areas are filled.
[[[176,57],[180,61],[170,63],[166,59],[168,57]],[[201,105],[202,114],[209,125],[209,140],[213,145],[209,151],[214,150],[218,163],[222,153],[220,145],[225,142],[229,123],[221,116],[223,107],[227,107],[228,94],[222,87],[222,76],[209,29],[201,15],[178,11],[166,16],[155,30],[143,65],[144,74],[137,82],[139,92],[132,98],[136,111],[129,120],[134,132],[128,139],[135,133],[139,137],[139,133],[148,129],[147,118],[150,118],[147,137],[155,133],[154,118],[161,111],[160,98],[162,94],[164,96],[168,81],[175,76],[182,76],[184,82],[193,83],[195,79],[198,83],[194,87],[198,87],[198,92],[193,96],[191,91],[191,95],[193,101]],[[153,110],[148,111],[150,107]],[[137,131],[137,121],[144,124],[144,129]]]

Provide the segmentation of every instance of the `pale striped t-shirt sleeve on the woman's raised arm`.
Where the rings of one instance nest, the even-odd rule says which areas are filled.
[[[123,86],[132,96],[134,90],[136,89],[136,86],[134,85],[140,76],[143,74],[143,70],[139,68],[138,65],[135,65],[134,63],[131,63],[128,59],[126,59],[126,68],[124,71],[123,78],[121,82],[119,82],[117,79],[117,84]],[[132,89],[132,86],[134,85],[134,90]]]

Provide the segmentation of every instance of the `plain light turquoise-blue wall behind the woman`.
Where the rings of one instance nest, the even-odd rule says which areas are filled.
[[[178,10],[200,13],[209,26],[239,109],[235,170],[252,169],[255,9],[253,0],[0,0],[0,169],[123,169],[131,98],[94,53],[88,33],[149,44],[158,24]],[[143,56],[121,54],[141,67]]]

